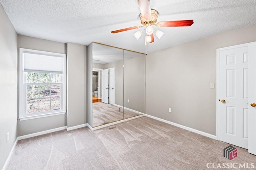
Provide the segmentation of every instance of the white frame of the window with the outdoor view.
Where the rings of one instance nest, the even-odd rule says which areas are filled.
[[[26,114],[26,105],[27,105],[26,85],[28,84],[26,82],[26,73],[28,71],[24,71],[24,53],[30,53],[35,55],[46,55],[46,56],[52,56],[52,57],[62,57],[62,75],[61,75],[62,82],[60,83],[61,84],[60,85],[61,86],[61,92],[60,92],[61,108],[60,109]],[[40,70],[30,70],[30,72],[46,73],[45,71],[40,71]],[[47,73],[56,74],[56,72],[51,72],[51,71]],[[18,103],[19,103],[18,119],[20,119],[21,121],[66,113],[66,55],[65,54],[19,48],[19,101]]]

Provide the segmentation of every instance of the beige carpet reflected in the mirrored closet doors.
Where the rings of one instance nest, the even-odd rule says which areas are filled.
[[[93,127],[138,116],[140,114],[103,102],[92,103]]]

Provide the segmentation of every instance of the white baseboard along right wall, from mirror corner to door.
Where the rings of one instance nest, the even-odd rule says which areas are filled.
[[[190,128],[190,127],[186,127],[186,126],[183,126],[183,125],[180,125],[180,124],[177,124],[177,123],[173,123],[173,122],[171,122],[171,121],[167,121],[167,120],[164,120],[164,119],[160,119],[160,118],[158,118],[158,117],[154,117],[154,116],[151,116],[151,115],[147,115],[147,114],[146,114],[146,116],[147,116],[147,117],[150,117],[150,118],[152,118],[152,119],[156,119],[156,120],[162,121],[162,122],[164,122],[164,123],[168,123],[168,124],[170,124],[170,125],[174,125],[174,126],[177,126],[177,127],[182,128],[182,129],[186,129],[186,130],[188,130],[188,131],[192,131],[192,132],[194,132],[194,133],[198,133],[198,134],[200,134],[200,135],[203,135],[203,136],[210,137],[210,138],[212,138],[212,139],[218,140],[218,139],[217,139],[217,136],[215,136],[215,135],[212,135],[212,134],[209,134],[209,133],[205,133],[205,132],[202,132],[202,131],[198,131],[198,130],[196,130],[196,129],[193,129],[193,128]]]

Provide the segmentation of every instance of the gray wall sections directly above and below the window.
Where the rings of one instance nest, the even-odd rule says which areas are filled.
[[[64,43],[18,35],[18,48],[66,54]],[[18,120],[18,136],[66,126],[66,114],[30,120]]]

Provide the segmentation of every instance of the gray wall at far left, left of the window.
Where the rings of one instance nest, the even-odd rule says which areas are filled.
[[[17,33],[0,4],[0,169],[17,138]],[[9,141],[6,134],[9,132]]]

